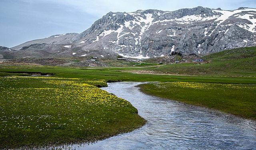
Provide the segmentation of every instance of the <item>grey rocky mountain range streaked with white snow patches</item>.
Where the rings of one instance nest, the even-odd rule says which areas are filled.
[[[176,11],[109,12],[80,34],[55,35],[15,46],[30,57],[132,58],[171,52],[204,55],[256,46],[256,9],[185,8]]]

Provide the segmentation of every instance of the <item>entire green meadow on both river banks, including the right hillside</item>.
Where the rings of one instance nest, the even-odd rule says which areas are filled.
[[[0,65],[0,76],[5,76],[0,77],[0,148],[88,143],[145,124],[129,102],[98,88],[106,82],[158,82],[140,88],[154,96],[256,120],[256,48],[202,58],[206,63],[111,68]],[[160,74],[132,73],[140,70]],[[52,77],[27,77],[32,73]]]

